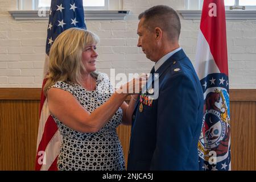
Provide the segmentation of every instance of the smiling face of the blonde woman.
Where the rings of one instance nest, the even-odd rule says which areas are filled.
[[[84,64],[87,73],[96,71],[97,56],[95,44],[86,46],[82,51],[82,64]]]

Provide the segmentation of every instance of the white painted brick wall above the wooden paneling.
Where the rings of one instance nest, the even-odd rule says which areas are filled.
[[[154,5],[184,9],[181,0],[123,0],[125,20],[87,20],[101,38],[97,68],[115,73],[149,72],[152,63],[137,48],[137,16]],[[47,20],[14,20],[16,0],[0,0],[0,87],[41,88]],[[195,64],[199,20],[181,18],[180,45]],[[227,20],[230,88],[256,89],[256,21]]]

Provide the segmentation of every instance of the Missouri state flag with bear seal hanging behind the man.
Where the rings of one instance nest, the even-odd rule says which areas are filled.
[[[224,0],[204,0],[197,40],[196,72],[204,92],[199,139],[202,170],[230,170],[230,107]]]

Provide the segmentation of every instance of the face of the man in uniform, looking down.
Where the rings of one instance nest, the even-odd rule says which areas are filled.
[[[158,61],[156,35],[154,31],[148,30],[144,25],[144,18],[139,20],[137,34],[139,35],[137,46],[142,48],[142,51],[148,59],[154,62]]]

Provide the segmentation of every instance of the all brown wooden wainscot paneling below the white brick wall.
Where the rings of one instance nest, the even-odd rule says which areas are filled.
[[[0,170],[34,170],[39,103],[40,89],[0,89]],[[230,90],[233,170],[256,170],[255,113],[256,90]],[[117,133],[127,165],[131,127]]]

